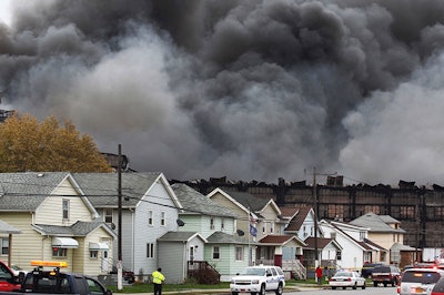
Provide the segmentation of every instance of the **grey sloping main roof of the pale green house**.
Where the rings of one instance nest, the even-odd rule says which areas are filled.
[[[183,183],[171,185],[183,206],[185,214],[206,214],[211,216],[236,217],[234,212],[219,205],[211,199]]]

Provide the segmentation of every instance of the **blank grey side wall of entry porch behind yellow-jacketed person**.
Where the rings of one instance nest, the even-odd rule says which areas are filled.
[[[186,273],[186,244],[181,242],[159,243],[159,267],[165,276],[165,283],[181,284],[184,282]],[[151,274],[151,273],[150,273]]]

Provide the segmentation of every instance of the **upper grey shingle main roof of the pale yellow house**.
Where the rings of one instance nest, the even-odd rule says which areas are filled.
[[[36,211],[68,172],[0,173],[0,211]]]

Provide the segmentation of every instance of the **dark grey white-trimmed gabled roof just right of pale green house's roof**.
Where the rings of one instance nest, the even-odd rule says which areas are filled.
[[[242,208],[245,213],[252,212],[254,213],[254,215],[258,215],[258,217],[262,217],[261,213],[269,205],[273,206],[273,208],[276,211],[276,215],[281,215],[281,210],[273,201],[273,199],[258,197],[245,192],[232,192],[232,191],[225,192],[220,187],[214,189],[211,193],[209,193],[208,197],[211,199],[215,193],[222,194],[232,203]]]

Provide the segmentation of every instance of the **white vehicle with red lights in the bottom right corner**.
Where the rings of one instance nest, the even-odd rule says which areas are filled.
[[[435,284],[444,276],[443,269],[435,268],[410,268],[405,269],[401,283],[397,286],[397,294],[431,294]]]

